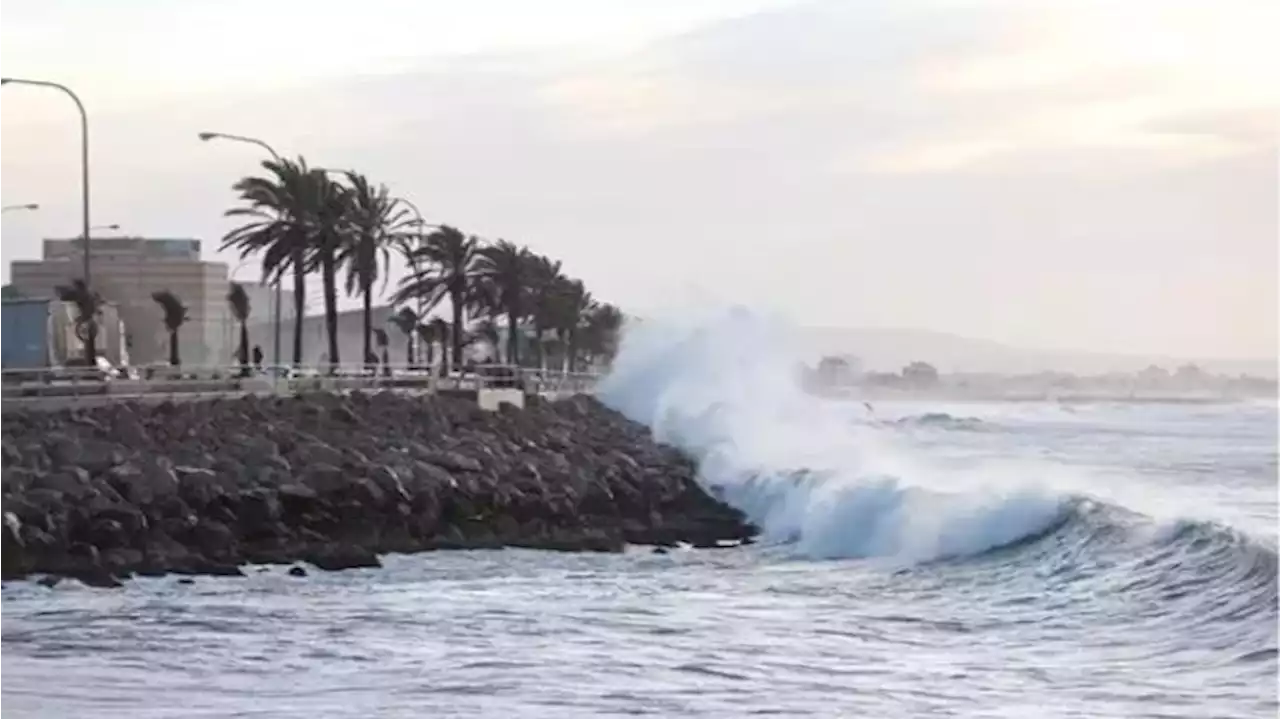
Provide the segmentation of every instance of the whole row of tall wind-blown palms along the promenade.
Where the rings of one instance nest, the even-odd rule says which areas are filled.
[[[328,362],[337,368],[342,360],[339,292],[362,303],[360,361],[376,357],[374,303],[389,289],[394,257],[410,267],[390,302],[401,306],[393,328],[419,340],[417,351],[410,349],[411,365],[430,365],[435,344],[442,367],[454,368],[481,342],[492,344],[494,361],[520,366],[539,367],[554,351],[571,371],[607,362],[616,351],[622,312],[593,297],[561,261],[507,239],[429,225],[387,186],[360,173],[326,171],[303,157],[268,160],[262,170],[233,186],[238,203],[225,214],[242,224],[223,238],[223,248],[259,258],[268,281],[292,283],[294,365],[302,363],[306,289],[315,275],[324,297]]]

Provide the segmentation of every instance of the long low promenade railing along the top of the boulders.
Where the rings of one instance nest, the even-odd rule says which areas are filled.
[[[119,400],[192,400],[246,394],[323,391],[381,391],[435,394],[484,389],[521,389],[527,394],[561,395],[591,391],[598,376],[509,365],[471,366],[442,374],[408,366],[369,370],[239,365],[216,367],[143,366],[104,371],[93,367],[0,370],[0,408],[63,407]]]

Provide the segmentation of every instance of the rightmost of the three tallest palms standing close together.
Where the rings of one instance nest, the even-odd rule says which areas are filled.
[[[364,354],[367,357],[374,334],[374,284],[379,278],[387,284],[381,270],[390,264],[392,247],[403,246],[411,219],[408,210],[390,196],[387,186],[375,188],[357,173],[347,173],[347,184],[351,234],[338,262],[347,267],[347,294],[358,293],[365,303]]]

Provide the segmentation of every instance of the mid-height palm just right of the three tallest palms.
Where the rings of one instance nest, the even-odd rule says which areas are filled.
[[[475,235],[467,237],[457,228],[442,225],[410,252],[416,269],[401,280],[399,290],[393,298],[393,302],[421,299],[424,311],[434,307],[442,298],[449,298],[453,310],[451,335],[454,366],[462,363],[462,339],[466,333],[462,311],[476,276],[479,246],[480,241]]]

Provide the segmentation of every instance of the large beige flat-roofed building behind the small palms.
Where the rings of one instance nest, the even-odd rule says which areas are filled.
[[[168,362],[169,338],[160,307],[151,298],[169,290],[187,306],[178,333],[182,361],[188,366],[229,365],[227,265],[200,258],[198,239],[140,237],[90,241],[92,285],[119,308],[125,344],[134,365]],[[46,239],[41,260],[15,260],[13,287],[24,297],[54,297],[56,287],[79,278],[81,239]]]

